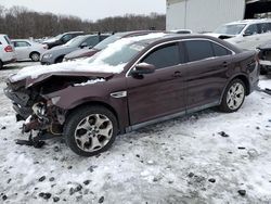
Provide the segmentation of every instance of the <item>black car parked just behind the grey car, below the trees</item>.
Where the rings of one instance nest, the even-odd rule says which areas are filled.
[[[54,38],[50,38],[50,39],[43,41],[42,43],[47,44],[48,49],[51,49],[53,47],[67,43],[73,38],[75,38],[77,36],[81,36],[81,35],[83,35],[83,31],[68,31],[65,34],[60,34],[60,35],[55,36]]]

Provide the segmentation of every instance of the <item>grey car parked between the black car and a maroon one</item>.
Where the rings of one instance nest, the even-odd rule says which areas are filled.
[[[41,55],[41,64],[54,64],[61,63],[64,56],[75,50],[80,50],[86,47],[94,47],[102,39],[105,39],[109,35],[86,35],[86,36],[77,36],[72,39],[67,43],[63,46],[54,47],[51,50],[48,50]]]

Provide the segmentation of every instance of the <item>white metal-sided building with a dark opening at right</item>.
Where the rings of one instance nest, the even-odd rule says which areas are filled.
[[[221,24],[268,12],[270,0],[167,0],[167,30],[212,31]]]

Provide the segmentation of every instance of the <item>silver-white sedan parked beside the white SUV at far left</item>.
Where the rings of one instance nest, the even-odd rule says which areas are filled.
[[[47,51],[44,44],[34,42],[27,39],[13,39],[11,40],[16,53],[17,61],[31,59],[34,62],[38,62],[40,55]]]

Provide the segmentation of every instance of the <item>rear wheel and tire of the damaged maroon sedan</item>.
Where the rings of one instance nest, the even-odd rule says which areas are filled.
[[[223,93],[220,111],[233,113],[240,110],[246,95],[246,86],[241,79],[233,79]]]

